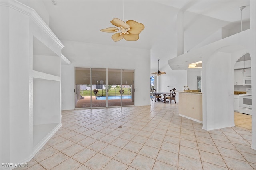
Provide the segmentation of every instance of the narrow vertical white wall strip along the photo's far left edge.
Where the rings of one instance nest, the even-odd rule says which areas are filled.
[[[9,13],[9,8],[1,6],[1,55],[0,55],[0,69],[1,69],[1,123],[0,123],[0,134],[1,134],[1,162],[10,162],[10,100],[9,100],[9,18],[4,17]],[[2,40],[5,40],[3,43]]]

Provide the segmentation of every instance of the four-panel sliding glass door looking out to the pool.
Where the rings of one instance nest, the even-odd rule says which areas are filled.
[[[75,108],[134,106],[134,70],[76,68]]]

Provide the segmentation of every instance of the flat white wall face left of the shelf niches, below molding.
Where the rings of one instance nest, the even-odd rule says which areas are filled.
[[[1,62],[5,65],[1,66],[1,72],[6,73],[3,77],[1,75],[1,83],[4,84],[1,88],[8,86],[7,89],[1,89],[2,92],[5,91],[4,96],[1,94],[1,118],[7,118],[1,119],[1,161],[8,163],[19,162],[21,158],[28,157],[31,148],[28,119],[29,16],[12,8],[6,8],[8,7],[1,6],[1,35],[9,33],[8,36],[1,36],[1,60],[5,61],[5,63]],[[2,16],[4,21],[8,21],[7,25],[2,24]],[[2,44],[5,43],[8,43],[8,49],[2,54]],[[14,99],[18,102],[12,102]],[[2,131],[5,132],[2,134]],[[5,133],[9,135],[3,136]],[[5,153],[7,154],[2,155]]]

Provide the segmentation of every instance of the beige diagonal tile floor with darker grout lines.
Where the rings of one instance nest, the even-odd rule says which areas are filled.
[[[180,117],[178,104],[161,102],[62,111],[62,127],[28,169],[255,170],[250,127],[241,124],[205,131],[202,124]]]

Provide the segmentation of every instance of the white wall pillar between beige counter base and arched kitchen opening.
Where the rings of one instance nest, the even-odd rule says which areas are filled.
[[[203,125],[207,130],[234,126],[233,94],[233,64],[231,54],[217,52],[204,60],[206,67],[206,103],[207,123]],[[221,62],[220,62],[221,61]],[[225,101],[225,102],[224,102]],[[204,114],[205,115],[205,114]],[[203,115],[203,116],[204,116]]]

